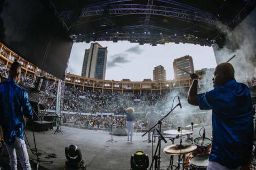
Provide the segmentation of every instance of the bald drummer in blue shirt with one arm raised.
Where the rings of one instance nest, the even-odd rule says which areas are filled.
[[[208,170],[241,169],[249,163],[253,145],[253,107],[249,88],[235,80],[230,63],[219,64],[214,71],[211,91],[197,94],[198,76],[188,103],[202,110],[212,110],[213,141]]]

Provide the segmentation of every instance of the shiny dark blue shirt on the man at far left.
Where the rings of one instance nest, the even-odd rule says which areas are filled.
[[[12,79],[0,83],[0,125],[3,129],[4,142],[8,145],[15,137],[24,140],[23,115],[33,116],[27,92]]]

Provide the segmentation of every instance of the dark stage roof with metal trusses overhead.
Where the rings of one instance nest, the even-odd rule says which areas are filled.
[[[218,41],[219,22],[236,27],[256,0],[55,0],[53,4],[76,42],[129,40],[211,46]]]

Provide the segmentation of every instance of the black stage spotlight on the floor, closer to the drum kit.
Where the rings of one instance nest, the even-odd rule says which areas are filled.
[[[137,151],[131,156],[132,170],[146,170],[149,166],[148,155],[143,151]]]

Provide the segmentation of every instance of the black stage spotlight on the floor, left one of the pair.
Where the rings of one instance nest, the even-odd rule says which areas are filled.
[[[81,150],[78,149],[76,145],[70,145],[65,148],[66,155],[66,165],[68,167],[79,168],[84,166],[84,161],[82,160]]]

